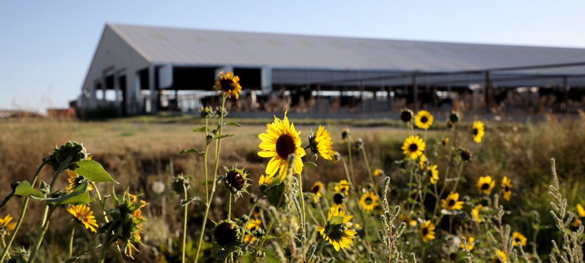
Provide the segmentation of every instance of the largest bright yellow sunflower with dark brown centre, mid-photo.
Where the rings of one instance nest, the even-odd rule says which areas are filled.
[[[274,175],[280,168],[278,179],[282,182],[288,169],[288,155],[295,154],[294,172],[301,174],[302,160],[305,156],[305,150],[301,147],[301,138],[294,129],[294,124],[288,123],[287,113],[284,113],[284,119],[280,120],[274,116],[274,122],[266,124],[268,129],[266,133],[261,133],[258,137],[262,142],[258,152],[260,157],[272,157],[266,165],[266,174]]]

